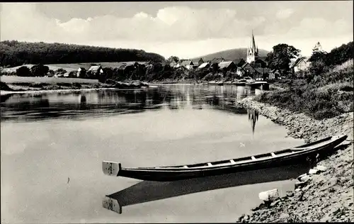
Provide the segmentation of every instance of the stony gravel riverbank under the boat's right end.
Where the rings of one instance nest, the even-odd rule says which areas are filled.
[[[322,171],[307,174],[302,186],[270,204],[263,203],[253,208],[249,214],[241,215],[237,222],[354,221],[353,112],[318,121],[304,113],[292,113],[253,101],[251,97],[236,101],[234,105],[255,109],[275,123],[285,125],[288,136],[302,138],[305,142],[331,135],[348,135],[348,141],[339,146],[340,150],[316,164],[324,168]]]

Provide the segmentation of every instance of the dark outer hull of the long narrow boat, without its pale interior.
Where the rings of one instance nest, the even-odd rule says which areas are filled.
[[[235,172],[248,172],[256,169],[267,169],[271,167],[282,167],[289,164],[306,164],[315,159],[318,154],[324,153],[336,147],[336,145],[346,140],[347,136],[343,135],[335,140],[331,140],[326,145],[314,147],[309,150],[301,150],[299,152],[290,153],[285,156],[275,156],[270,159],[254,159],[250,162],[239,164],[229,164],[222,166],[210,166],[200,168],[182,168],[182,167],[144,167],[144,168],[122,168],[120,164],[113,163],[114,172],[108,175],[129,177],[133,179],[141,179],[147,181],[177,181],[182,179],[192,179],[196,177],[210,177],[220,174],[230,174]],[[310,143],[304,146],[309,146]],[[296,149],[296,148],[294,148]],[[104,163],[104,162],[103,162]],[[107,174],[105,166],[103,172]],[[115,166],[115,167],[114,167]],[[112,167],[110,167],[112,170]]]

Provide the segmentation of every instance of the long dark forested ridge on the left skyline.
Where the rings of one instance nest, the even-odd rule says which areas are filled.
[[[0,42],[0,66],[23,64],[64,64],[81,62],[162,62],[164,57],[135,49],[93,47],[63,43]]]

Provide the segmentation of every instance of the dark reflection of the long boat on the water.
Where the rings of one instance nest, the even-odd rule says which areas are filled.
[[[304,163],[181,181],[140,181],[126,189],[105,196],[103,207],[116,213],[122,213],[124,206],[149,201],[247,184],[288,180],[304,174],[309,168],[310,165]]]

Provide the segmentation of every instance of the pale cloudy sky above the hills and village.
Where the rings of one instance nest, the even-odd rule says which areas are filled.
[[[353,41],[353,1],[44,2],[1,4],[1,40],[142,49],[198,57],[278,43],[311,55]]]

